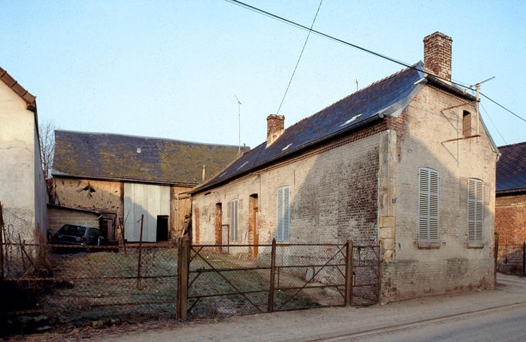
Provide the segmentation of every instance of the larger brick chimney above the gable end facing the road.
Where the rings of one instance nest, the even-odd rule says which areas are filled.
[[[424,68],[451,81],[451,37],[435,32],[424,38]]]

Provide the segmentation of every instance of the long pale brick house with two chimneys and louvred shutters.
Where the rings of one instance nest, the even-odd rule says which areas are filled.
[[[269,115],[266,142],[189,192],[194,243],[381,241],[382,302],[492,288],[498,149],[448,81],[451,44],[427,36],[423,63],[287,129]]]

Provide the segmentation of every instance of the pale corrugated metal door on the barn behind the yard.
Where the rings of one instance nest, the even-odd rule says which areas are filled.
[[[155,242],[157,216],[170,215],[170,187],[124,183],[124,236],[127,241],[139,241],[141,215],[145,215],[142,241]]]

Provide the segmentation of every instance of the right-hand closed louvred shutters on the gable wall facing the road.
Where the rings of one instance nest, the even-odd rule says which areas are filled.
[[[482,242],[484,223],[484,182],[468,179],[468,243]]]

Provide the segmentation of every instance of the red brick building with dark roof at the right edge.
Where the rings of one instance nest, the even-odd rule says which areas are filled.
[[[499,234],[499,271],[523,274],[526,241],[526,142],[500,146],[497,163],[495,231]]]

